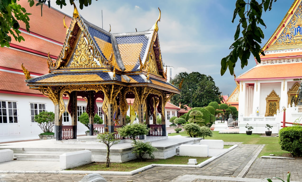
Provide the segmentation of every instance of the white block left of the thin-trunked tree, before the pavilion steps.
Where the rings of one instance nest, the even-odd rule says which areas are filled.
[[[91,151],[81,150],[60,155],[60,168],[70,169],[91,163]]]

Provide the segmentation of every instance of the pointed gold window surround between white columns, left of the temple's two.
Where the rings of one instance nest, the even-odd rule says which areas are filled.
[[[279,101],[280,97],[273,90],[271,93],[265,98],[266,100],[266,112],[265,116],[274,116],[277,114],[277,110],[279,109]]]

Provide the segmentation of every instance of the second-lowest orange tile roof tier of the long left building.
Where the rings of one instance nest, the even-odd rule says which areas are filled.
[[[47,74],[47,58],[3,47],[0,49],[0,66],[22,70],[21,64],[29,72]],[[9,77],[8,77],[9,78]],[[25,77],[24,77],[25,78]]]

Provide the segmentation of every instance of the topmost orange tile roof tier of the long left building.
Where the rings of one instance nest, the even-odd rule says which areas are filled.
[[[25,0],[18,1],[22,7],[26,9],[27,13],[31,13],[28,17],[30,18],[30,31],[35,34],[43,35],[52,40],[63,43],[66,37],[66,28],[63,24],[64,14],[53,8],[48,8],[47,5],[43,6],[43,16],[41,17],[41,7],[33,6],[30,7],[29,3]],[[35,1],[37,3],[37,1]],[[45,18],[47,17],[47,18]],[[67,27],[71,22],[70,17],[65,17],[65,23]],[[25,24],[20,22],[20,28],[25,29]],[[26,41],[26,40],[25,40]]]

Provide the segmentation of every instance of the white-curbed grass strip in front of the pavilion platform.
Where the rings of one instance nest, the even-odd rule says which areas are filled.
[[[149,164],[188,164],[192,157],[174,156],[168,159],[147,159],[145,162],[133,160],[125,163],[111,163],[110,168],[106,168],[106,163],[91,163],[76,168],[68,169],[75,171],[133,171]],[[210,157],[194,157],[198,164],[209,159]]]

